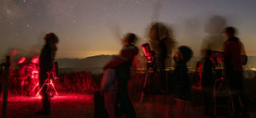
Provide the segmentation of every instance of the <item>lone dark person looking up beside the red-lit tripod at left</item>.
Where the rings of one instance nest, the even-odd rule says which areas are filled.
[[[57,51],[56,44],[59,42],[58,37],[54,33],[46,34],[44,37],[44,48],[41,50],[39,56],[39,81],[40,87],[43,86],[44,82],[48,78],[48,72],[53,69],[53,62],[55,59],[55,53]],[[49,85],[45,84],[41,90],[43,94],[42,110],[38,111],[38,115],[50,115],[50,98],[49,98]]]

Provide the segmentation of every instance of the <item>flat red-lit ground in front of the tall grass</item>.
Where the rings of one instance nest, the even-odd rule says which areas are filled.
[[[138,102],[133,103],[138,118],[177,117],[175,100],[171,95],[145,96],[145,98],[143,98],[143,104],[139,104]],[[40,110],[40,108],[40,98],[9,96],[8,117],[94,117],[93,95],[60,93],[60,96],[51,98],[51,115],[49,116],[35,115],[34,113]],[[256,116],[253,112],[251,112],[250,115],[251,117]],[[190,117],[205,118],[210,116],[203,115],[201,105],[191,104]]]

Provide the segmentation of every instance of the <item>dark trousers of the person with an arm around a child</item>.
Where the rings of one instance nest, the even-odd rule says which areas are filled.
[[[129,78],[130,79],[130,78]],[[119,118],[121,115],[125,114],[125,117],[136,118],[136,113],[129,98],[127,78],[119,78],[118,91],[116,94],[115,101],[115,117]]]

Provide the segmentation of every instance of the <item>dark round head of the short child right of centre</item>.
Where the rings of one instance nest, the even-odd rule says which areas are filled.
[[[174,55],[174,61],[178,64],[181,63],[187,63],[189,59],[191,59],[193,56],[193,51],[186,47],[186,46],[180,46],[177,48],[177,52]]]

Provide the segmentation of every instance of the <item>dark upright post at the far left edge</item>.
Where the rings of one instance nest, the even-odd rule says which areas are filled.
[[[5,63],[2,64],[4,67],[3,72],[3,112],[2,117],[7,118],[7,102],[8,102],[8,90],[9,90],[9,66],[10,56],[5,57]]]

